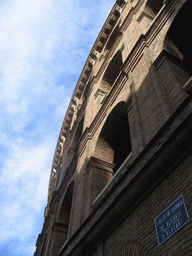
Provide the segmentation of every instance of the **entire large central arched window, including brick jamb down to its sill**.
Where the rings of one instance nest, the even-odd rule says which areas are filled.
[[[109,114],[97,140],[94,156],[87,164],[90,202],[94,205],[101,191],[115,173],[117,176],[117,170],[120,170],[119,167],[131,155],[128,113],[125,106],[122,101]]]

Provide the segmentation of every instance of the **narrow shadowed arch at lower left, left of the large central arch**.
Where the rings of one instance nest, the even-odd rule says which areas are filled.
[[[67,188],[58,216],[58,221],[53,225],[51,254],[56,256],[68,238],[71,206],[73,199],[74,181]]]

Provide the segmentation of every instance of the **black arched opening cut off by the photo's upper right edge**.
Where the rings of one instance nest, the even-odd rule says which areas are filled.
[[[184,67],[192,75],[192,38],[188,31],[192,24],[192,1],[188,0],[180,9],[168,31],[165,47],[183,60]]]

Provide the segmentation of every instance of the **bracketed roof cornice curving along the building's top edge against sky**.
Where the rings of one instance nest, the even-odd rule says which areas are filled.
[[[82,96],[82,93],[85,90],[87,81],[89,80],[89,77],[91,74],[91,70],[97,62],[99,53],[102,51],[102,49],[107,41],[107,38],[109,37],[114,25],[116,24],[117,20],[119,19],[119,16],[120,16],[121,12],[123,11],[123,8],[127,2],[128,2],[128,0],[120,0],[114,4],[106,22],[104,23],[96,41],[92,47],[92,50],[87,58],[87,61],[83,67],[83,70],[81,72],[81,75],[79,77],[77,85],[75,87],[74,93],[72,95],[70,104],[68,106],[68,109],[67,109],[62,127],[61,127],[59,139],[58,139],[58,142],[56,145],[56,150],[55,150],[55,154],[54,154],[54,158],[53,158],[53,164],[52,164],[51,175],[50,175],[50,182],[49,182],[48,203],[51,199],[50,198],[51,191],[54,190],[55,180],[57,179],[57,169],[60,164],[61,156],[63,153],[64,143],[66,141],[66,137],[67,137],[67,134],[70,129],[70,124],[71,124],[71,121],[73,118],[73,114],[76,110],[77,104]]]

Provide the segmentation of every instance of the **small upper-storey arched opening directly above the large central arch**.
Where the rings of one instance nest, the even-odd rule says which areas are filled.
[[[113,59],[110,61],[105,74],[103,76],[102,82],[101,82],[101,86],[103,89],[109,91],[113,85],[113,83],[115,82],[117,76],[119,75],[119,71],[120,68],[123,64],[122,61],[122,53],[119,50],[115,56],[113,57]]]

